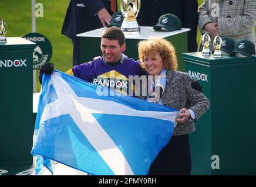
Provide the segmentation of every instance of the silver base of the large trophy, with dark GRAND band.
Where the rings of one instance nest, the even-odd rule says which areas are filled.
[[[121,30],[123,31],[124,35],[129,36],[139,36],[140,35],[140,27],[137,23],[136,19],[124,19]]]

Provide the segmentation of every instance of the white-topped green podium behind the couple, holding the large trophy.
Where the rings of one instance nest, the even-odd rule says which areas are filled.
[[[80,62],[89,62],[94,57],[102,56],[100,50],[100,36],[106,27],[80,33],[77,36],[80,41]],[[184,61],[181,53],[187,53],[187,32],[190,29],[183,28],[173,32],[160,31],[156,32],[153,27],[140,26],[140,36],[126,36],[126,51],[124,54],[129,58],[138,59],[137,44],[140,40],[149,39],[150,36],[159,36],[169,40],[176,49],[178,70],[185,71]]]

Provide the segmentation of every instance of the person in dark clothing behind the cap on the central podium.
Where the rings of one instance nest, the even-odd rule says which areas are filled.
[[[139,26],[155,26],[161,15],[171,13],[182,22],[183,28],[190,28],[188,32],[188,52],[197,51],[197,0],[141,0]]]

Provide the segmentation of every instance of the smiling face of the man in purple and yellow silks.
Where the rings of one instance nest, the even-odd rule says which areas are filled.
[[[126,49],[125,43],[120,46],[118,40],[109,40],[103,38],[100,44],[100,49],[102,50],[103,58],[107,63],[116,63],[123,51]]]

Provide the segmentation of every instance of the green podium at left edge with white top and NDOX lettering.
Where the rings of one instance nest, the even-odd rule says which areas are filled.
[[[32,163],[33,49],[22,37],[7,37],[0,44],[1,164]],[[2,167],[3,168],[3,167]]]

